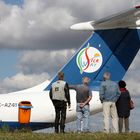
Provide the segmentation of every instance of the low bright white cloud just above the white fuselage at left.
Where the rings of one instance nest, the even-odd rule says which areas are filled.
[[[1,93],[9,93],[18,90],[27,89],[38,85],[46,79],[50,78],[47,73],[41,74],[23,74],[18,73],[12,77],[7,77],[4,80],[0,81],[0,91]]]

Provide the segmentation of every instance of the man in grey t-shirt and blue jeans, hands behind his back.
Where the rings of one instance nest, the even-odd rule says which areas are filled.
[[[89,132],[89,102],[92,99],[92,92],[88,87],[90,79],[84,77],[81,85],[70,85],[71,89],[76,90],[76,114],[77,114],[77,132]],[[83,121],[83,128],[82,128]]]

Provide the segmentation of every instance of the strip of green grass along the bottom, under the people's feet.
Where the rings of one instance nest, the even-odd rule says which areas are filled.
[[[0,140],[140,140],[140,133],[130,134],[43,134],[31,132],[0,132]]]

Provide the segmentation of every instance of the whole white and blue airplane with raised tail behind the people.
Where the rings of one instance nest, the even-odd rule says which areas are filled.
[[[60,71],[69,84],[81,84],[83,77],[89,77],[93,98],[90,101],[91,115],[102,111],[99,87],[103,73],[109,71],[111,79],[121,80],[133,62],[140,48],[140,6],[97,21],[78,23],[73,30],[91,31],[89,39],[73,55]],[[54,126],[55,111],[49,98],[51,81],[23,91],[0,95],[0,127],[4,124],[12,129],[21,127],[19,103],[30,102],[29,126],[39,130]],[[26,81],[25,81],[26,82]],[[76,92],[70,90],[71,108],[67,110],[66,122],[76,119]],[[26,108],[27,109],[27,108]],[[22,117],[22,116],[21,116]]]

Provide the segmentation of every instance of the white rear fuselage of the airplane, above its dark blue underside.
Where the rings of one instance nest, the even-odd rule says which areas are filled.
[[[92,95],[90,111],[91,114],[95,114],[102,110],[102,105],[99,100],[99,92],[92,91]],[[76,118],[76,92],[70,90],[70,96],[71,108],[67,109],[67,122]],[[54,122],[55,111],[49,97],[49,91],[21,91],[0,95],[0,121],[18,122],[18,103],[21,101],[30,101],[32,103],[30,122]]]

